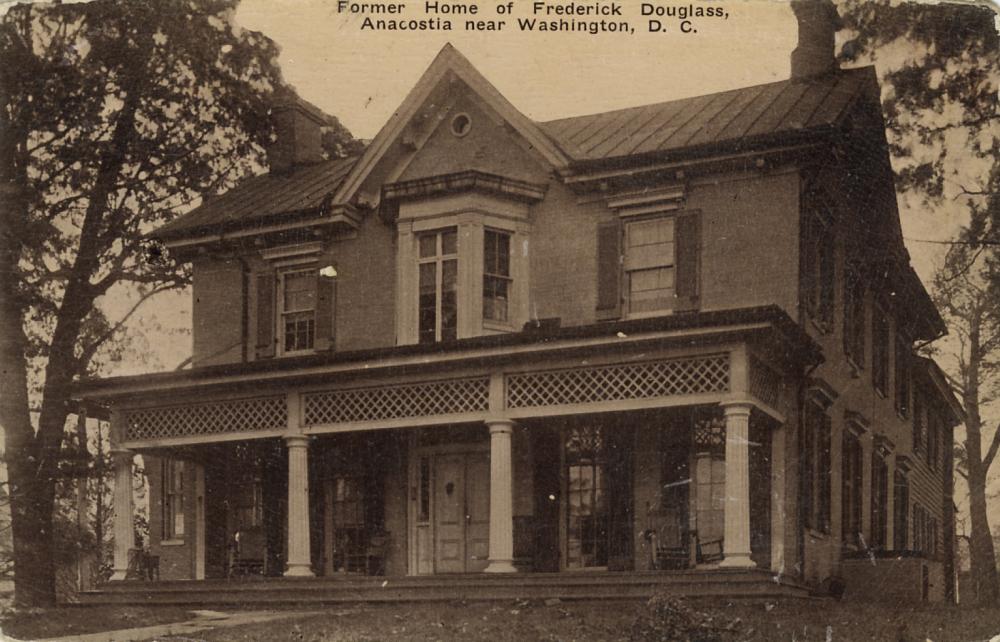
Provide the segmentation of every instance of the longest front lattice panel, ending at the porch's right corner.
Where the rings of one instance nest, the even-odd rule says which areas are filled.
[[[729,391],[729,355],[508,375],[507,407],[649,399]]]

